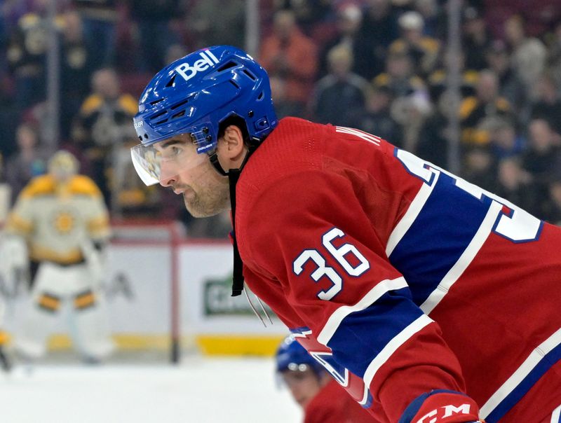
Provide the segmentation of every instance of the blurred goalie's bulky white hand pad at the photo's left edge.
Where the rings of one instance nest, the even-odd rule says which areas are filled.
[[[20,286],[29,286],[29,255],[25,239],[17,235],[0,237],[0,289],[15,296]]]

